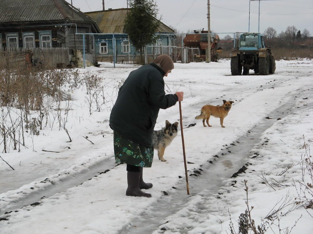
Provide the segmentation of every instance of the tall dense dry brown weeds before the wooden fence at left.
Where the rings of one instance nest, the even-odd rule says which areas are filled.
[[[24,131],[29,129],[31,135],[38,135],[54,111],[52,103],[71,99],[64,91],[69,76],[68,70],[44,70],[25,62],[15,63],[13,56],[0,61],[0,144],[4,153],[11,145],[20,152],[21,145],[26,147]],[[60,121],[60,105],[58,112]]]

